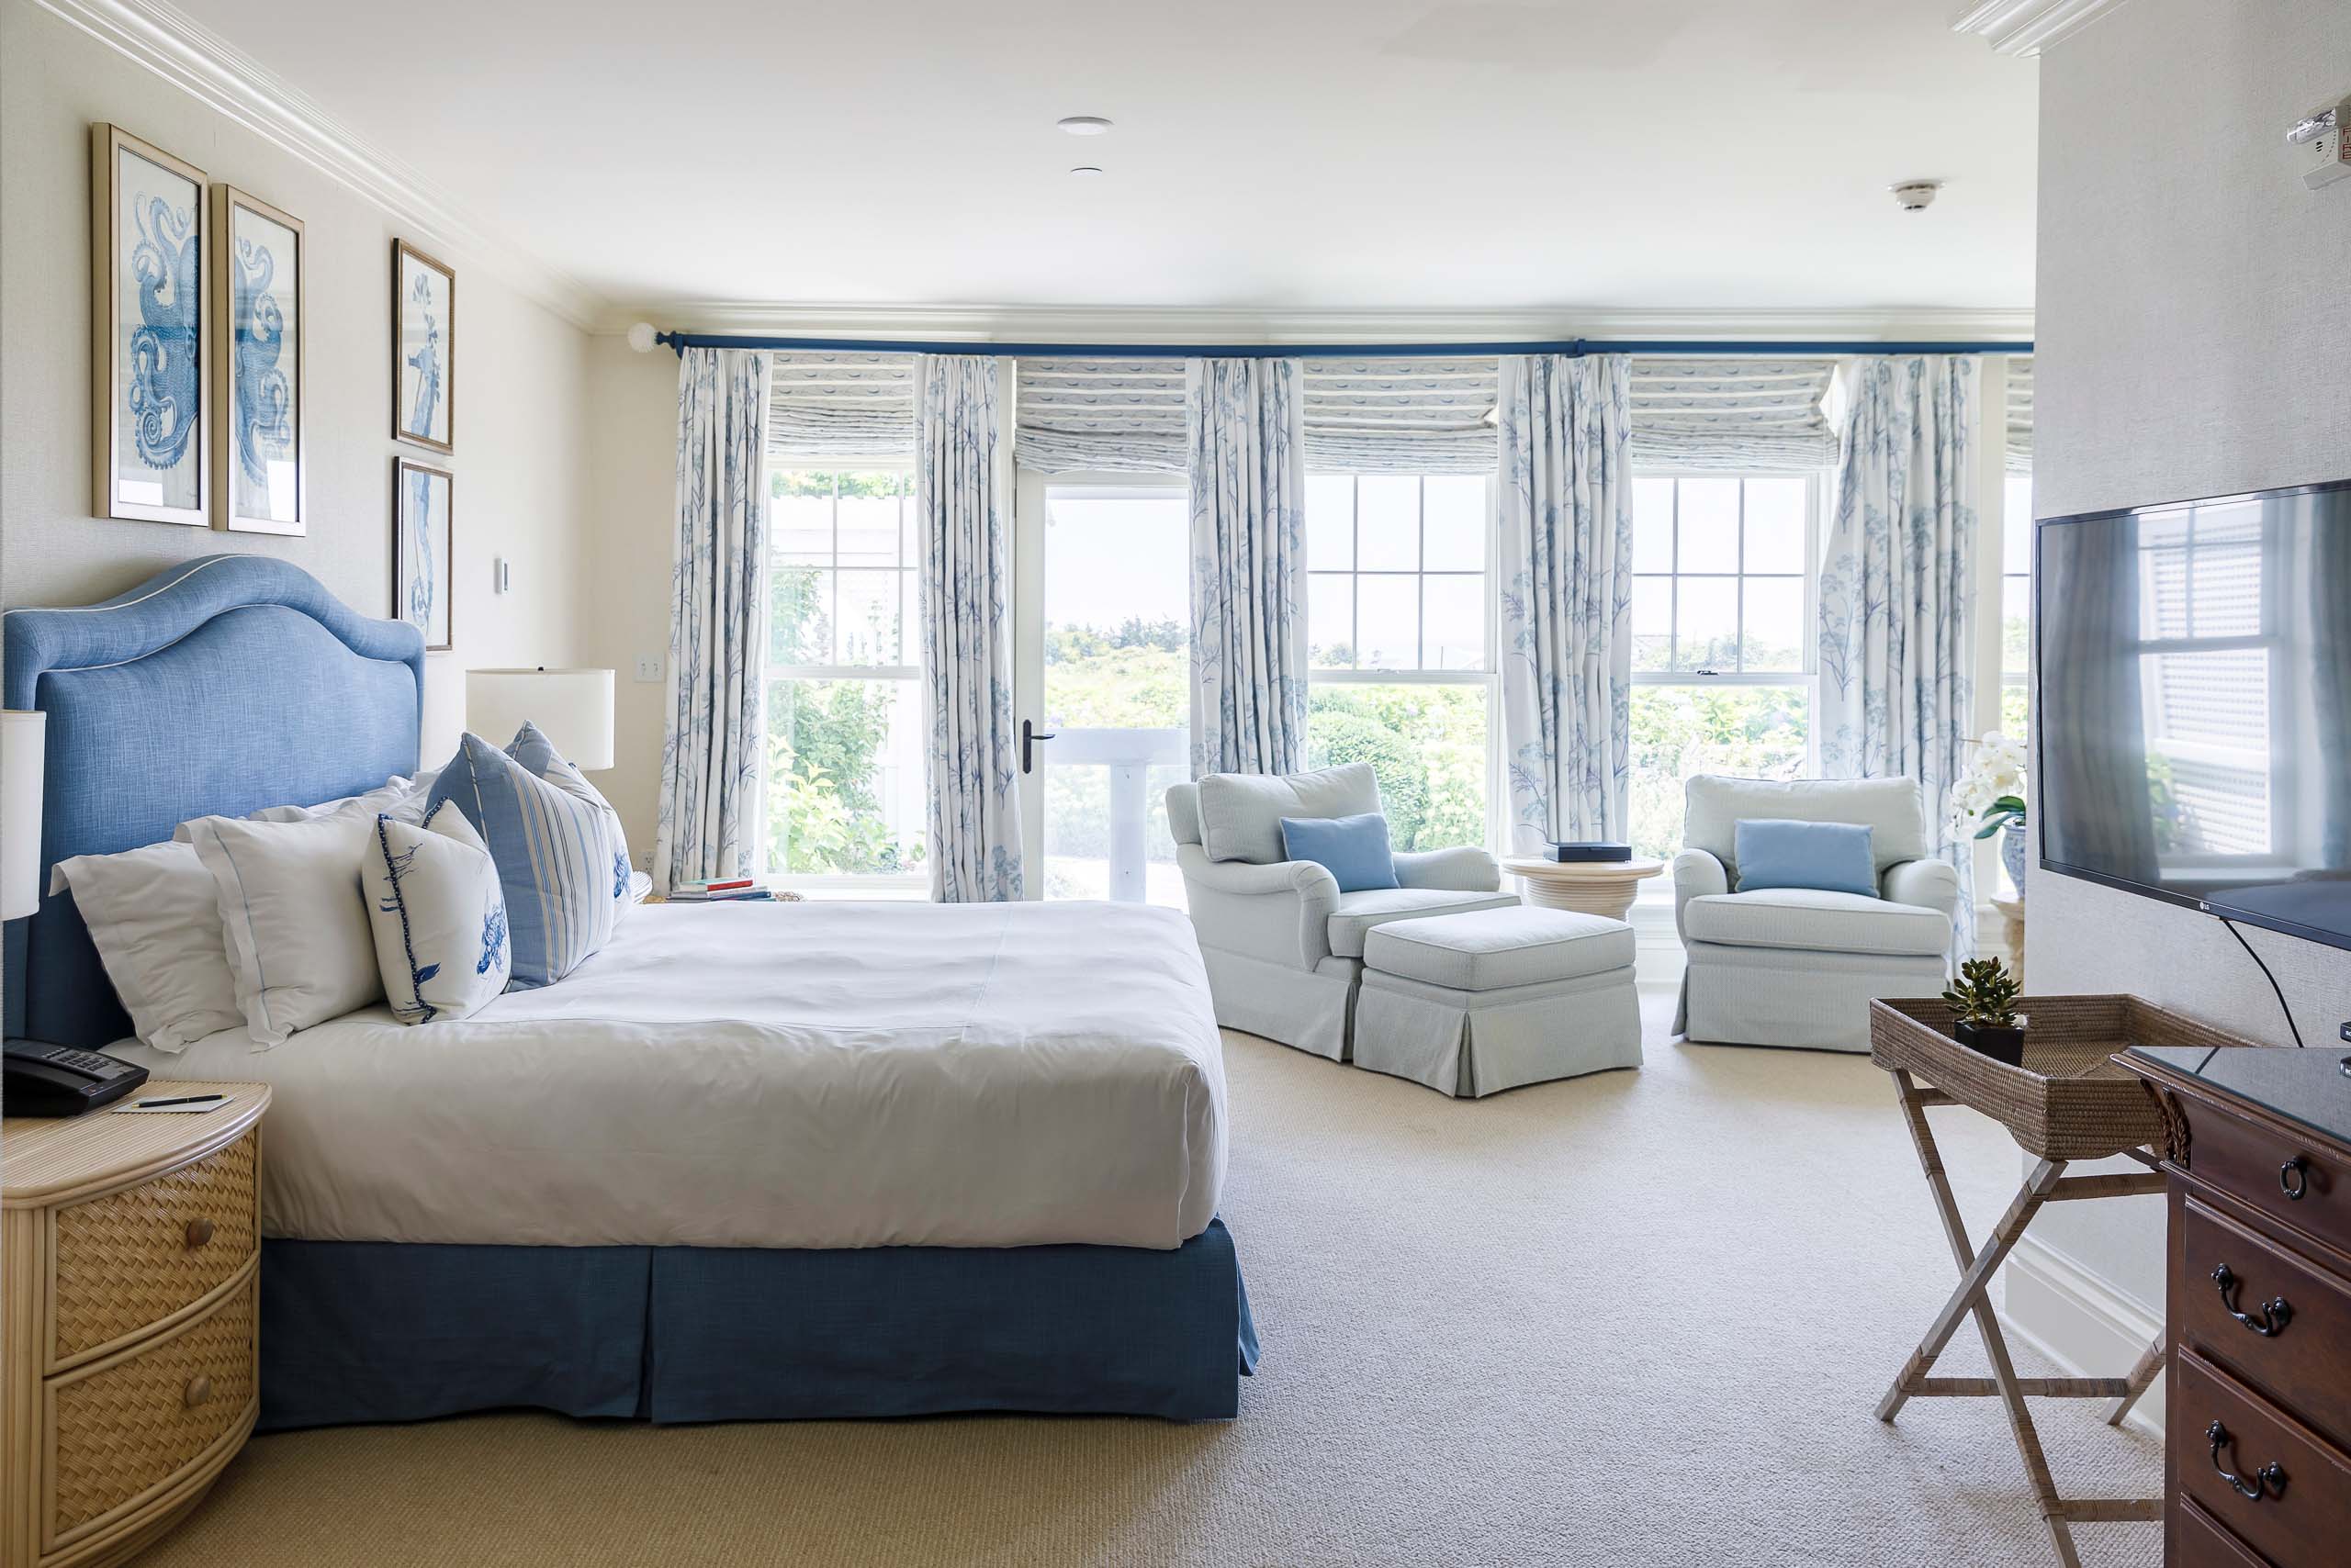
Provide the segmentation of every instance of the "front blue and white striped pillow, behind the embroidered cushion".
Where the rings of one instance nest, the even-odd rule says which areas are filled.
[[[538,778],[475,733],[433,780],[426,811],[444,799],[456,802],[498,863],[515,964],[508,990],[555,985],[604,945],[618,907],[611,806]]]

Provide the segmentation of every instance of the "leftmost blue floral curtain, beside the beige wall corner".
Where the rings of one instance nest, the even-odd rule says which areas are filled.
[[[759,870],[766,811],[766,393],[748,348],[677,362],[677,538],[654,889]]]

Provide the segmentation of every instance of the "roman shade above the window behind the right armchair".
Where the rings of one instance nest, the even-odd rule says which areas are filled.
[[[1822,402],[1836,360],[1634,355],[1632,465],[1789,473],[1836,465]]]

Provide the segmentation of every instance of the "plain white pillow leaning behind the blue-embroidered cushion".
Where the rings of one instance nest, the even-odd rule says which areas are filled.
[[[383,999],[376,938],[360,896],[374,820],[355,811],[301,823],[205,816],[188,823],[228,936],[245,1027],[261,1046]]]

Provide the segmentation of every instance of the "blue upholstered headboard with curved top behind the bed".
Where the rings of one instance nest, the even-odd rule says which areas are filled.
[[[207,555],[103,604],[12,609],[0,625],[5,705],[49,715],[45,896],[7,926],[9,1037],[129,1034],[73,896],[47,896],[56,860],[416,771],[423,635],[355,614],[282,559]]]

